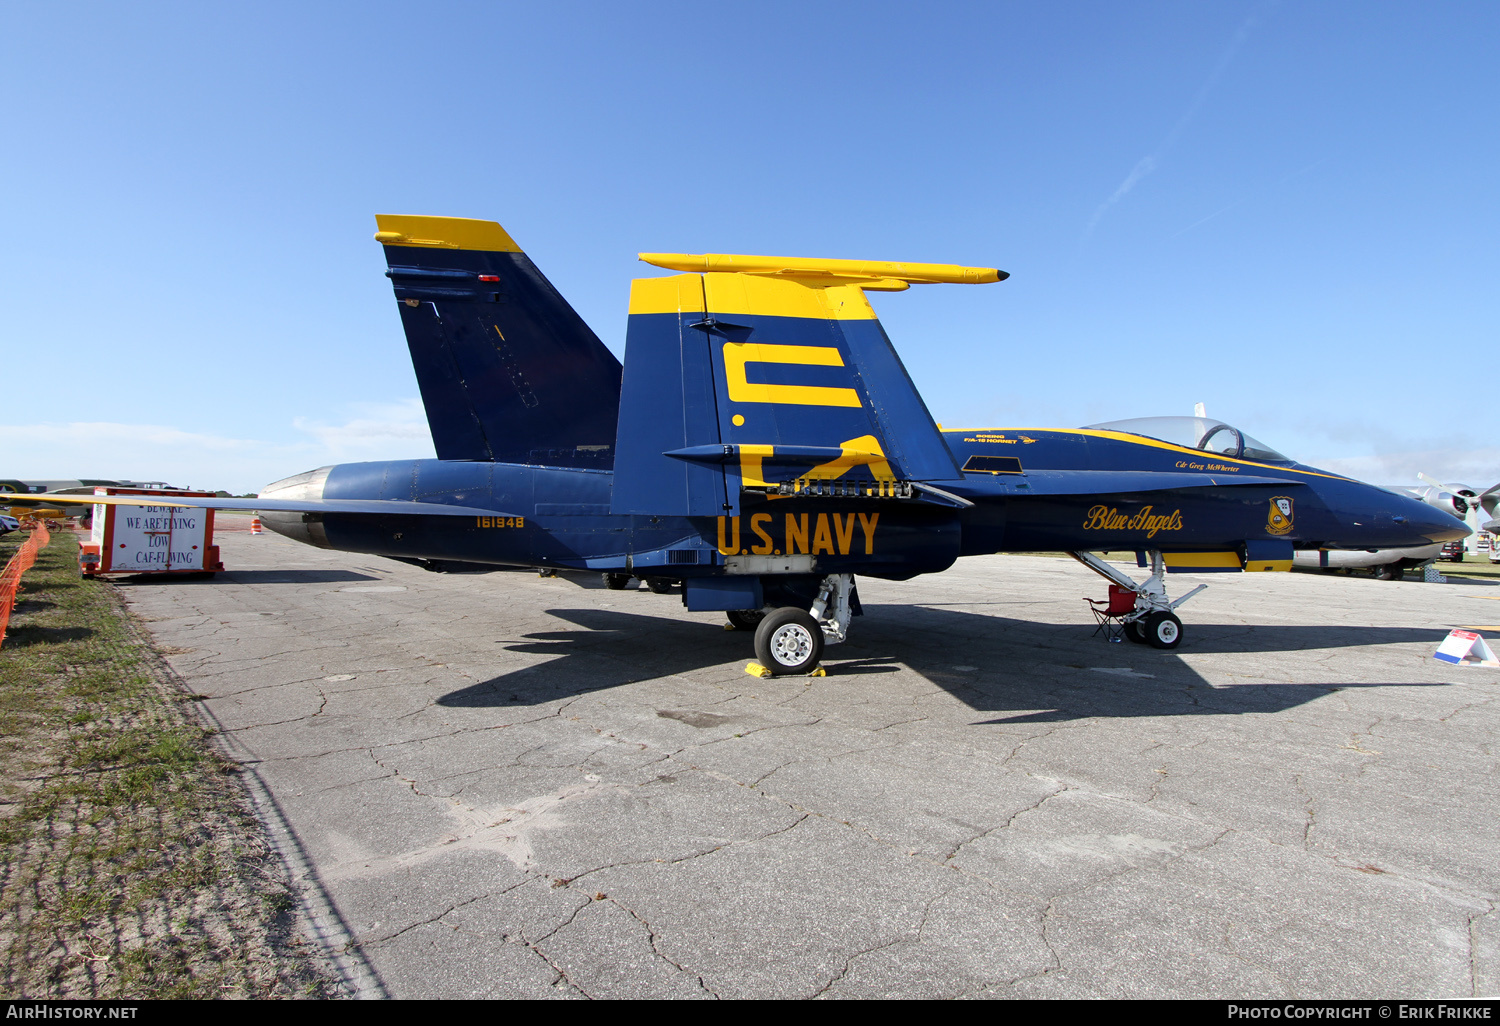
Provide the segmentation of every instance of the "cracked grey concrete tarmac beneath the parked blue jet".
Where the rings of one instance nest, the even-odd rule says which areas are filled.
[[[760,680],[678,596],[219,542],[122,591],[364,993],[1500,993],[1500,670],[1432,658],[1500,585],[1174,576],[1167,652],[987,556]]]

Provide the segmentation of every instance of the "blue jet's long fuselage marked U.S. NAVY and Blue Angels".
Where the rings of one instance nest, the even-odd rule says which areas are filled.
[[[261,498],[405,500],[513,516],[262,519],[290,537],[350,552],[663,578],[718,574],[730,556],[813,556],[820,573],[904,579],[992,552],[1218,552],[1268,538],[1298,549],[1386,549],[1468,532],[1418,500],[1294,462],[1236,459],[1113,430],[984,429],[944,438],[960,466],[984,468],[938,482],[972,506],[747,496],[738,516],[620,516],[609,512],[612,471],[417,459],[309,471],[267,486]],[[1076,471],[1086,472],[1086,488]],[[1173,486],[1143,488],[1142,472]],[[1059,490],[1048,474],[1068,488]]]

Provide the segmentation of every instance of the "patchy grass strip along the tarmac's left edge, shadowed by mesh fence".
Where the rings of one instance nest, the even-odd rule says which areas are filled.
[[[18,542],[0,538],[0,564]],[[189,699],[54,534],[0,648],[0,996],[333,993]]]

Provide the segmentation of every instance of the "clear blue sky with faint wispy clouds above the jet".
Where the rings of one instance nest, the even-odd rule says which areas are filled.
[[[1206,402],[1500,480],[1494,3],[0,6],[0,477],[429,456],[374,214],[504,224],[622,352],[640,250],[878,296],[951,426]]]

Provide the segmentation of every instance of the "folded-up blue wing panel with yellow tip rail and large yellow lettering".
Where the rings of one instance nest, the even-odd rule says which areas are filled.
[[[864,290],[994,282],[1002,272],[642,260],[705,273],[633,284],[615,513],[724,516],[746,492],[894,496],[963,477]]]

